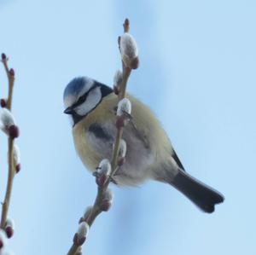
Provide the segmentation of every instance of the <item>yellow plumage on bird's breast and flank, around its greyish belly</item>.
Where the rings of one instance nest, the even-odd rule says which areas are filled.
[[[162,129],[159,121],[154,117],[151,110],[141,101],[133,96],[127,95],[131,101],[131,115],[140,135],[145,137],[152,154],[155,164],[165,160],[167,155],[172,153],[172,145]],[[95,151],[90,147],[88,137],[85,135],[90,125],[103,124],[106,121],[115,122],[114,108],[118,104],[117,96],[110,94],[102,99],[102,102],[90,112],[84,119],[73,127],[73,139],[75,148],[84,165],[90,170],[95,171],[96,166],[102,159],[101,152]]]

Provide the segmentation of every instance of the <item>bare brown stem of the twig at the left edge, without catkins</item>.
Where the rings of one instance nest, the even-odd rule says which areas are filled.
[[[13,69],[9,69],[8,67],[8,58],[3,58],[2,55],[2,62],[3,67],[6,71],[8,81],[9,81],[9,96],[7,99],[7,105],[6,107],[11,110],[12,107],[12,97],[13,97],[13,88],[15,84],[15,72]],[[8,183],[5,191],[5,196],[3,200],[3,206],[2,206],[2,216],[1,216],[1,223],[0,228],[4,229],[6,219],[8,216],[8,210],[9,210],[9,202],[10,197],[12,193],[12,187],[13,187],[13,181],[15,177],[15,165],[14,165],[14,138],[9,136],[8,138],[8,162],[9,162],[9,171],[8,171]]]

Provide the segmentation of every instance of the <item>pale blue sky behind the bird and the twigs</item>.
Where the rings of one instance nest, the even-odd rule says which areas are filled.
[[[9,248],[54,255],[72,244],[96,184],[75,154],[62,92],[79,75],[112,85],[129,17],[141,59],[130,92],[157,114],[187,171],[226,200],[207,215],[162,183],[113,188],[113,207],[96,219],[84,254],[255,254],[255,13],[253,0],[0,0],[0,51],[16,71],[22,154]],[[3,68],[0,84],[3,97]]]

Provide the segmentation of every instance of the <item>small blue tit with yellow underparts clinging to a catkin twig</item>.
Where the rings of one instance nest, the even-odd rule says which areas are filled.
[[[154,113],[135,97],[127,97],[132,106],[132,120],[123,134],[127,152],[113,183],[136,185],[147,179],[169,183],[203,212],[213,212],[224,196],[184,170]],[[95,171],[102,159],[112,158],[117,104],[111,88],[87,77],[74,78],[64,91],[64,113],[73,121],[75,148],[90,171]]]

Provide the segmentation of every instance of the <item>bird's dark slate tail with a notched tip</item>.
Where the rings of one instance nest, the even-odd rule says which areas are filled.
[[[194,177],[189,176],[185,171],[179,171],[171,184],[204,212],[214,212],[215,204],[224,201],[224,196],[222,194],[196,180]]]

